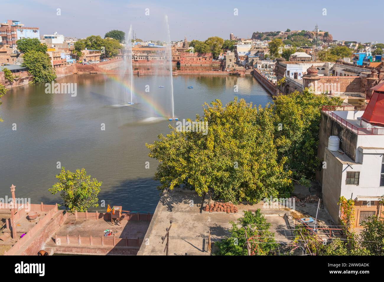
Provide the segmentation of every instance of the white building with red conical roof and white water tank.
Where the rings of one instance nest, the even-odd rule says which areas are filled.
[[[324,206],[336,225],[341,196],[354,200],[355,227],[361,227],[368,216],[382,216],[384,83],[372,90],[367,107],[323,107],[321,111],[318,157],[323,159],[323,169],[316,177],[322,184]],[[329,136],[339,138],[339,149],[328,143]]]

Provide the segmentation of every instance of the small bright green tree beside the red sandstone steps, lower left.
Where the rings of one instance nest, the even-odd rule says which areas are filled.
[[[60,174],[56,175],[59,182],[48,189],[55,195],[60,192],[62,205],[72,213],[74,211],[86,211],[90,207],[98,207],[98,194],[102,182],[96,178],[91,179],[85,169],[76,169],[76,172],[66,171],[62,167]]]

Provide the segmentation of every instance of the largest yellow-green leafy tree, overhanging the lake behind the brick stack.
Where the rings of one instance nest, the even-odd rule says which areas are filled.
[[[149,156],[159,161],[158,189],[182,185],[223,202],[256,203],[290,187],[291,172],[283,170],[287,160],[278,160],[273,140],[271,108],[237,98],[225,107],[220,100],[204,106],[204,117],[195,121],[205,124],[205,131],[171,127],[170,134],[146,144]]]

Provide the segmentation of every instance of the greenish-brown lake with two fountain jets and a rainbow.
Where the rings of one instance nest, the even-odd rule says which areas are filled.
[[[30,198],[31,203],[60,202],[59,195],[48,192],[56,182],[60,162],[70,171],[84,167],[103,182],[99,202],[153,212],[159,200],[158,182],[153,180],[157,161],[148,157],[145,144],[170,132],[166,119],[172,113],[170,78],[134,76],[135,104],[119,107],[130,99],[127,80],[113,74],[77,74],[56,80],[76,83],[75,97],[47,94],[44,84],[10,89],[0,110],[4,120],[0,123],[0,198],[10,197],[13,184],[16,197]],[[202,115],[202,104],[215,99],[225,104],[237,96],[263,106],[272,100],[251,75],[177,75],[173,85],[179,120]],[[13,124],[17,130],[12,130]]]

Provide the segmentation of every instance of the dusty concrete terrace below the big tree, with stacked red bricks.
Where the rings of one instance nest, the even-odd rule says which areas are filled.
[[[206,199],[205,204],[207,203]],[[286,236],[290,236],[283,218],[286,212],[289,213],[288,209],[263,208],[263,204],[259,203],[257,205],[239,204],[237,205],[238,213],[208,211],[200,213],[200,204],[201,198],[195,192],[180,190],[164,192],[138,254],[164,255],[166,242],[162,244],[161,237],[166,235],[166,228],[172,220],[169,232],[170,255],[209,255],[207,252],[209,230],[212,241],[227,237],[228,230],[232,226],[230,221],[237,222],[237,219],[243,215],[243,211],[253,211],[257,208],[262,209],[266,219],[272,224],[270,230],[275,232],[276,241],[286,241]]]

